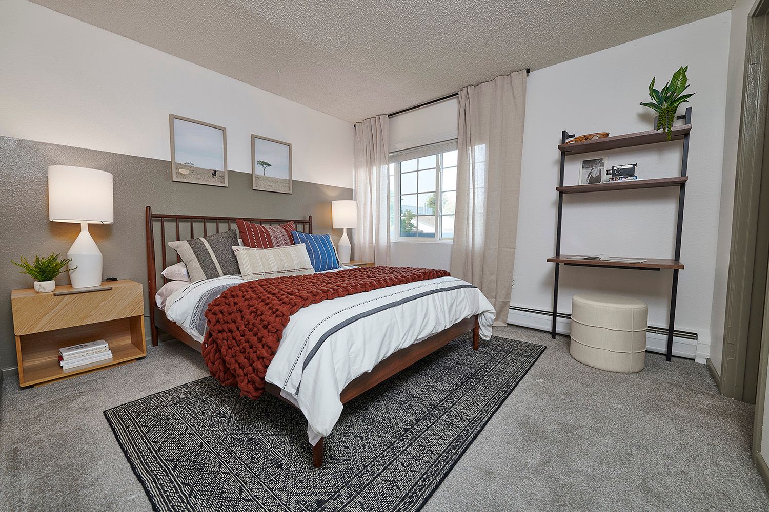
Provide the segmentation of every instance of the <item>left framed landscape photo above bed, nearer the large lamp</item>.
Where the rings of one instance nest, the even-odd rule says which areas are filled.
[[[227,187],[227,129],[174,114],[171,180]]]

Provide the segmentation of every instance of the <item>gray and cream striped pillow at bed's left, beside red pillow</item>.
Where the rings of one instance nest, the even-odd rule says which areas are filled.
[[[237,245],[238,230],[235,228],[194,240],[168,242],[185,262],[193,281],[240,274],[238,259],[232,252],[232,246]]]

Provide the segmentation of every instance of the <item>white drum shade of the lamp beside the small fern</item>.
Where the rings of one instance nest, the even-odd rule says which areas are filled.
[[[112,224],[112,174],[69,165],[48,167],[48,219]]]

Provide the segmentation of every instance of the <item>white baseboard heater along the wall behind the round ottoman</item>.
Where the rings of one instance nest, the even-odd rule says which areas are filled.
[[[571,314],[559,312],[556,315],[556,332],[562,335],[571,333]],[[511,325],[520,325],[530,329],[538,329],[544,332],[551,332],[553,314],[544,309],[525,308],[521,306],[510,306],[508,314],[508,323]],[[650,352],[660,352],[664,354],[667,345],[667,327],[658,327],[649,325],[646,332],[646,349]],[[705,362],[707,354],[698,353],[697,332],[673,330],[673,355],[695,359],[697,362]],[[705,347],[706,348],[706,347]]]

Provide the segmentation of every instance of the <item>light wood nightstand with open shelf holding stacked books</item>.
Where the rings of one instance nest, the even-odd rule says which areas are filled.
[[[54,292],[34,289],[11,292],[13,330],[16,336],[18,384],[25,387],[70,378],[100,368],[132,362],[147,355],[144,331],[144,292],[128,279],[102,282],[112,289],[101,292]],[[65,372],[58,363],[58,349],[104,339],[112,359]]]

